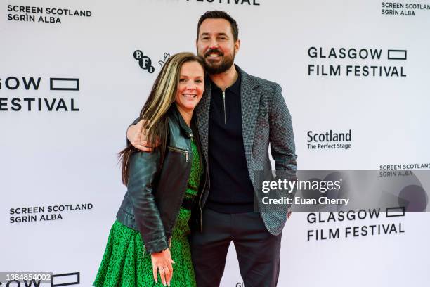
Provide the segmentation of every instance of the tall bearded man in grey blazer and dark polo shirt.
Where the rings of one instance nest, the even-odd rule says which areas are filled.
[[[263,207],[257,200],[261,212],[254,212],[254,196],[260,197],[255,172],[271,172],[269,144],[277,173],[296,170],[291,117],[278,84],[233,65],[240,39],[230,15],[204,13],[196,46],[208,73],[196,115],[209,169],[200,200],[202,232],[190,236],[197,286],[219,286],[231,241],[245,286],[276,286],[287,209]],[[141,125],[131,126],[127,137],[148,151]]]

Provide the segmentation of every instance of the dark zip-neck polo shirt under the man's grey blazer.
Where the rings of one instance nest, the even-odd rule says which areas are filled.
[[[254,210],[254,189],[249,179],[242,135],[241,75],[224,93],[211,81],[209,110],[209,177],[206,206],[222,213]],[[210,79],[209,79],[210,80]],[[225,108],[225,109],[224,109]]]

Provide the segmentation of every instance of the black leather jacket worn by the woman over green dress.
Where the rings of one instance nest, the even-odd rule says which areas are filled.
[[[191,137],[197,136],[186,125],[176,105],[168,113],[169,136],[164,160],[159,148],[152,153],[136,152],[129,163],[129,183],[117,220],[140,232],[145,249],[149,253],[169,248],[169,238],[179,214],[185,189],[190,177],[192,156]],[[198,142],[198,139],[197,141]],[[201,156],[204,164],[203,156]],[[207,165],[200,191],[204,191],[207,179]],[[202,192],[193,210],[192,228],[195,224],[202,229]]]

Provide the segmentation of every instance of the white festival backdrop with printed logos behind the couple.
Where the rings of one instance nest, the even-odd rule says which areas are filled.
[[[126,191],[116,156],[126,127],[143,106],[164,53],[195,52],[204,11],[230,13],[241,39],[235,63],[281,85],[299,169],[428,170],[430,2],[398,3],[403,8],[373,0],[2,1],[0,272],[79,273],[80,285],[91,285]],[[341,48],[352,57],[342,58]],[[371,49],[380,57],[353,57]],[[139,67],[136,50],[152,60],[155,72]],[[339,65],[340,75],[318,75],[316,65],[325,72]],[[349,65],[359,66],[360,76],[346,75]],[[363,66],[377,67],[376,75],[364,76]],[[37,89],[26,89],[30,78],[39,81]],[[308,142],[308,132],[330,130],[351,130],[344,143],[351,148],[308,147],[318,144]],[[48,210],[57,205],[74,210]],[[30,207],[44,211],[22,213]],[[428,214],[386,218],[382,212],[379,219],[315,224],[306,216],[294,214],[283,231],[279,286],[428,284]],[[384,223],[401,224],[404,232],[307,238],[309,229]],[[231,245],[221,286],[240,282]]]

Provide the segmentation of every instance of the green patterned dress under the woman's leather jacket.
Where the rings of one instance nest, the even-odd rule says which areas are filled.
[[[191,148],[193,162],[188,179],[188,188],[185,191],[185,198],[189,200],[197,198],[200,177],[203,174],[200,156],[193,139],[191,140]],[[176,264],[173,264],[174,274],[170,282],[171,287],[196,286],[190,244],[187,237],[190,234],[190,227],[188,227],[190,217],[191,210],[181,208],[172,232],[170,252]],[[143,241],[138,231],[115,221],[112,229],[110,229],[105,254],[93,286],[163,286],[159,275],[158,283],[154,281],[151,256],[148,253],[143,256]]]

